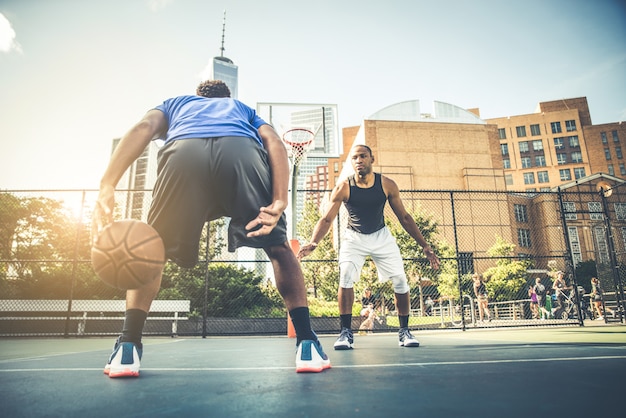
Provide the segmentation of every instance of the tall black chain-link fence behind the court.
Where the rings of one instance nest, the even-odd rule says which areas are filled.
[[[300,191],[297,239],[308,241],[327,191]],[[124,292],[103,284],[90,262],[91,212],[97,191],[0,192],[0,335],[109,335],[121,329]],[[116,194],[116,219],[145,220],[148,190]],[[575,191],[403,191],[402,200],[441,260],[432,270],[391,209],[389,229],[405,259],[413,329],[583,324],[596,313],[592,277],[605,289],[605,321],[623,318],[626,194]],[[146,334],[286,334],[286,311],[262,250],[225,250],[228,219],[206,225],[198,264],[168,263]],[[346,215],[301,263],[313,327],[339,328],[338,263]],[[553,290],[554,273],[566,287]],[[479,311],[472,275],[483,276],[488,312]],[[536,278],[546,288],[535,304]],[[361,297],[374,301],[373,325],[362,327]],[[397,329],[393,289],[367,262],[355,285],[353,327]],[[540,299],[541,300],[541,299]],[[481,320],[482,319],[482,320]]]

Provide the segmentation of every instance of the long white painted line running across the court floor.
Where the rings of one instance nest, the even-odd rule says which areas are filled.
[[[593,356],[593,357],[553,357],[553,358],[529,358],[509,360],[475,360],[475,361],[433,361],[422,363],[386,363],[386,364],[355,364],[332,366],[333,369],[371,369],[391,367],[432,367],[432,366],[464,366],[485,364],[511,364],[511,363],[537,363],[552,361],[581,361],[581,360],[626,360],[626,356]],[[167,372],[214,372],[214,371],[271,371],[292,370],[294,366],[269,366],[269,367],[148,367],[142,371],[167,371]],[[44,372],[73,372],[73,371],[102,371],[99,368],[85,367],[61,367],[61,368],[37,368],[37,369],[0,369],[0,373],[44,373]]]

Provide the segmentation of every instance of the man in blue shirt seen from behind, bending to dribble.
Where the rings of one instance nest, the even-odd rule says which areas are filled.
[[[193,267],[205,222],[229,216],[229,251],[263,248],[274,267],[296,330],[296,371],[330,368],[311,329],[302,270],[287,241],[285,147],[252,108],[230,98],[222,81],[205,81],[196,94],[164,101],[122,137],[100,182],[93,236],[113,221],[115,185],[126,169],[150,141],[163,139],[148,223],[163,239],[166,256]],[[127,290],[124,328],[104,370],[109,377],[139,375],[143,326],[160,285],[161,275]]]

